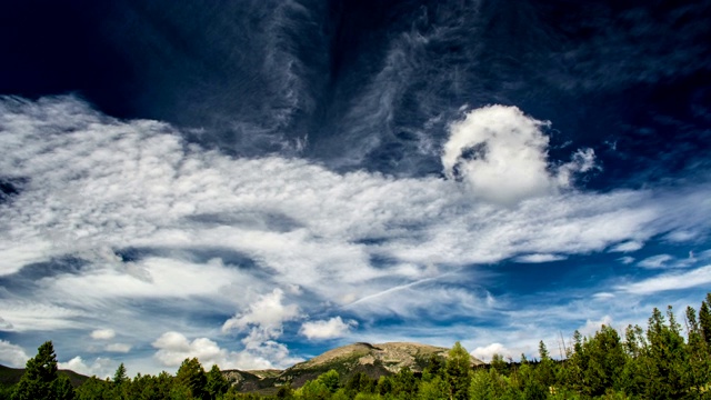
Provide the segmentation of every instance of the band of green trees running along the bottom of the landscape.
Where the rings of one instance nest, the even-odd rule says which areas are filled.
[[[553,360],[545,344],[539,357],[507,362],[495,354],[472,368],[458,342],[447,359],[432,357],[421,373],[408,368],[371,379],[365,373],[341,377],[328,371],[301,388],[282,386],[273,396],[240,393],[217,366],[206,372],[187,359],[176,376],[140,373],[129,379],[123,364],[113,379],[90,378],[73,389],[57,374],[51,342],[39,348],[11,399],[711,399],[711,293],[699,312],[687,308],[683,328],[671,307],[654,309],[647,330],[629,326],[623,336],[609,326],[583,338],[575,331],[563,360]],[[685,333],[685,336],[684,336]]]

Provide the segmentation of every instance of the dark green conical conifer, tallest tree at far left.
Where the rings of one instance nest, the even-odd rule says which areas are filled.
[[[12,393],[12,400],[72,399],[73,391],[67,392],[67,382],[56,382],[59,374],[52,342],[47,341],[37,350],[37,356],[27,361],[24,374]]]

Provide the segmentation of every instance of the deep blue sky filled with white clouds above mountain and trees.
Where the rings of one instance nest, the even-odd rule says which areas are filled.
[[[0,3],[0,363],[554,357],[711,288],[711,2]],[[682,318],[679,317],[679,320]]]

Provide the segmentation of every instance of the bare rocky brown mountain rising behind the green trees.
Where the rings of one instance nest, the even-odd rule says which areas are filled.
[[[240,391],[258,391],[262,393],[273,392],[278,387],[291,383],[299,388],[306,381],[317,378],[331,369],[338,371],[342,380],[347,380],[356,373],[363,372],[370,378],[378,379],[382,376],[397,373],[408,367],[413,372],[422,372],[431,357],[445,359],[448,348],[409,343],[353,343],[329,350],[308,361],[300,362],[283,371],[222,371],[230,382]],[[483,364],[481,360],[471,358],[472,366]]]

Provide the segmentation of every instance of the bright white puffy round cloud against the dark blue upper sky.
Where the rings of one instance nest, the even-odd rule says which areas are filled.
[[[549,139],[542,132],[549,124],[515,107],[469,111],[450,127],[442,153],[444,174],[467,182],[478,198],[509,206],[569,188],[574,173],[593,168],[594,153],[580,150],[571,162],[551,168]]]

